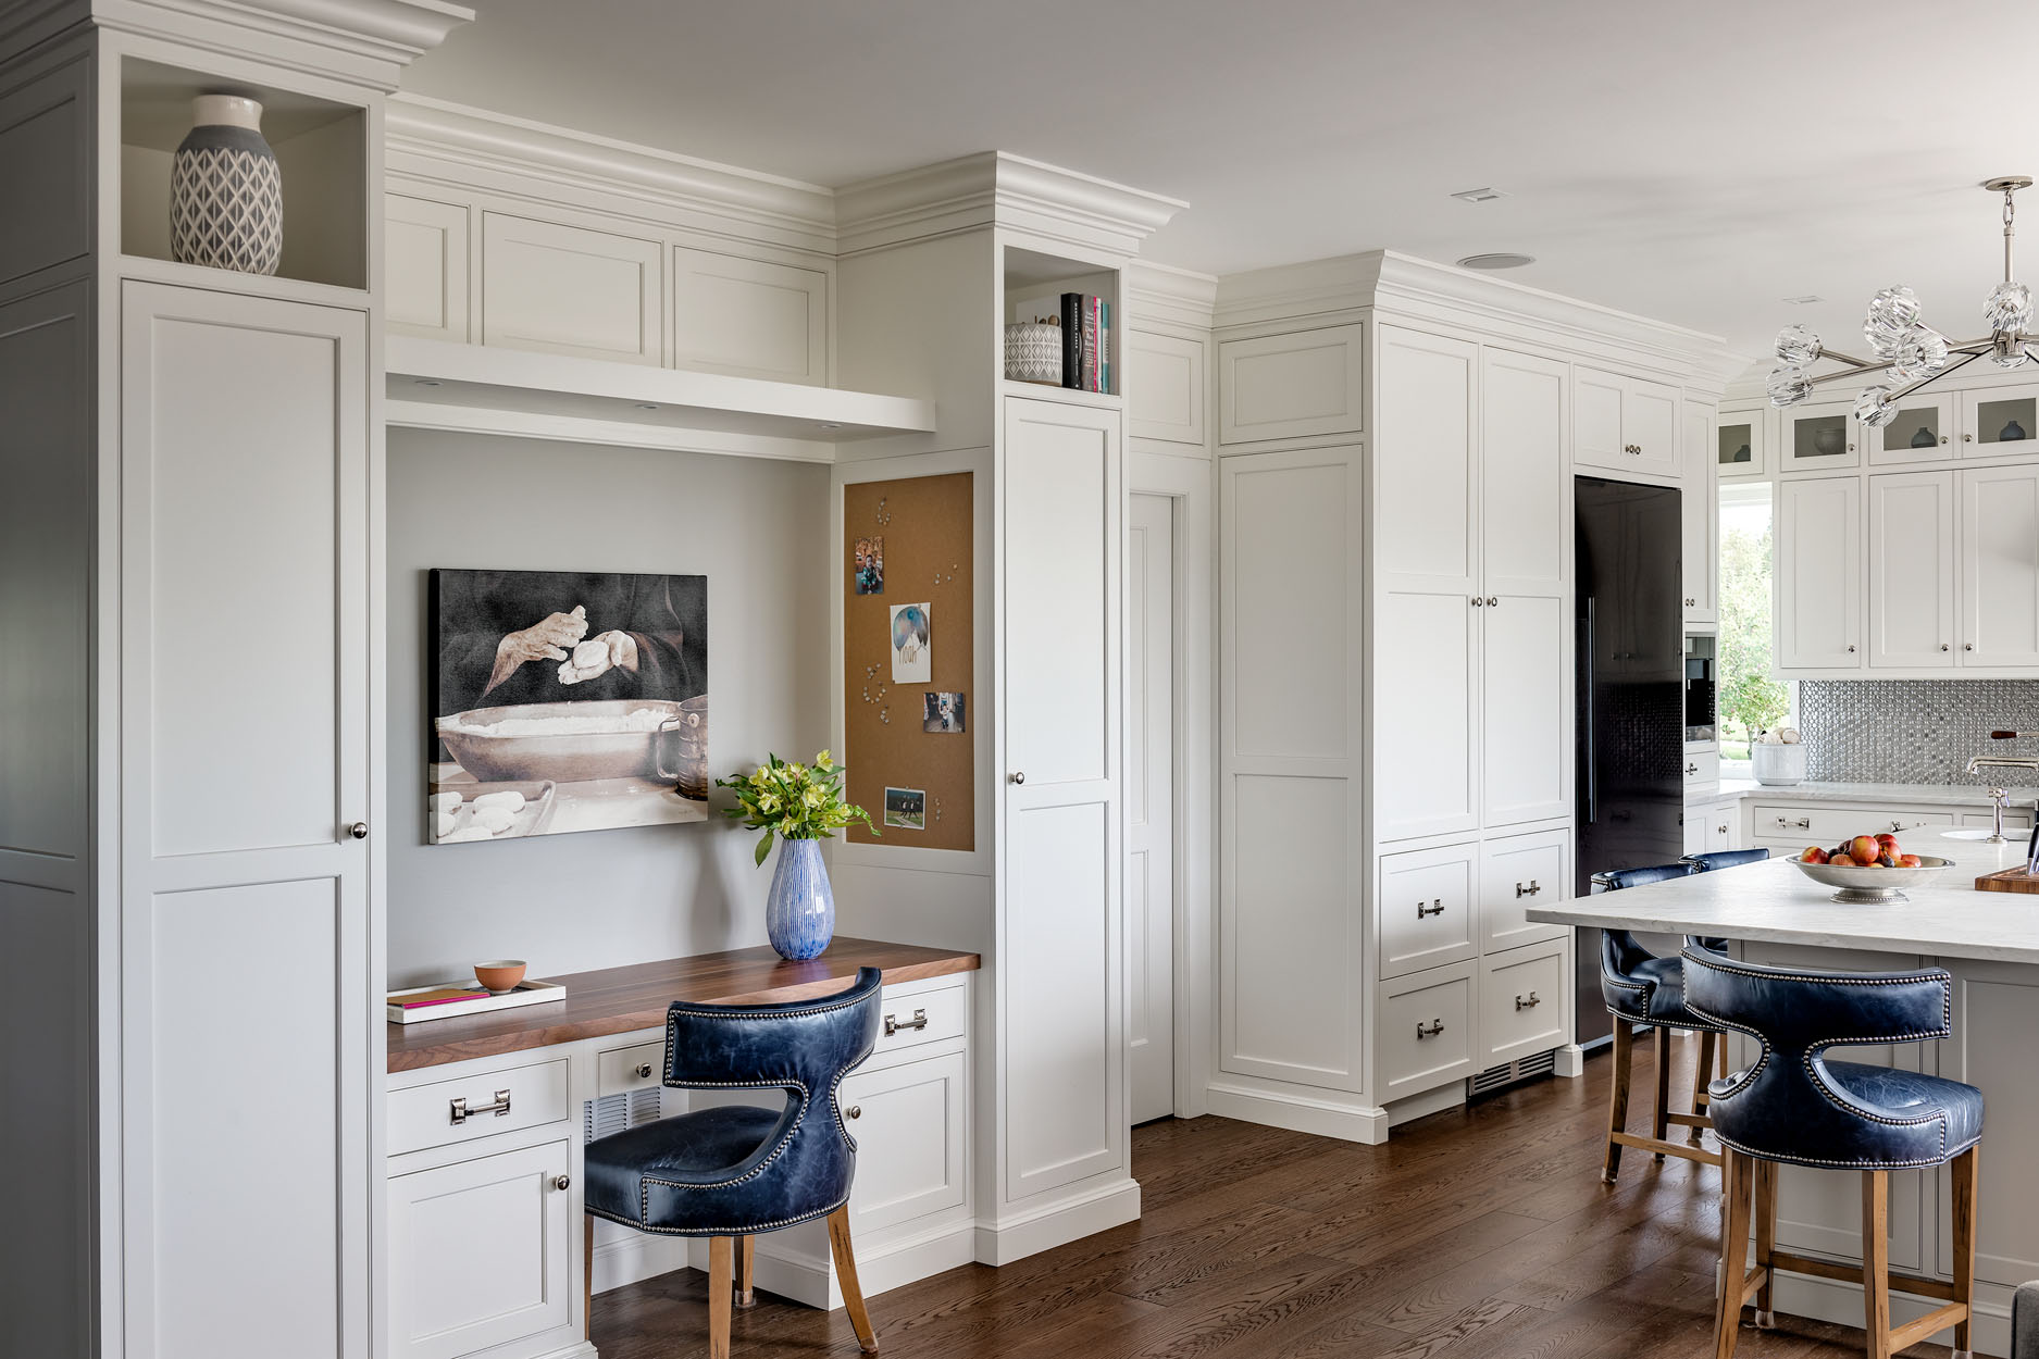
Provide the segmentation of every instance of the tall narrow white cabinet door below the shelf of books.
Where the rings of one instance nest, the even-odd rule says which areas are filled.
[[[1005,1200],[1126,1167],[1119,414],[1005,401]]]

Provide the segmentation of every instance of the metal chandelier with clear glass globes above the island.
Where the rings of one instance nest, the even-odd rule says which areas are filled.
[[[2033,291],[2010,279],[2012,218],[2017,218],[2012,196],[2031,187],[2031,177],[2000,175],[1984,179],[1982,187],[2004,196],[2004,281],[1992,287],[1982,304],[1982,324],[1990,328],[1990,334],[1980,340],[1949,340],[1919,320],[1919,293],[1904,285],[1886,287],[1870,297],[1870,314],[1862,322],[1862,334],[1876,359],[1855,359],[1831,350],[1805,326],[1778,330],[1778,367],[1770,371],[1768,385],[1772,405],[1809,401],[1821,383],[1888,373],[1894,383],[1870,383],[1855,397],[1855,420],[1880,430],[1896,420],[1898,401],[1966,363],[1988,355],[1990,363],[2015,369],[2027,359],[2039,359],[2029,348],[2039,342],[2039,334],[2031,334]],[[1841,367],[1813,375],[1811,369],[1821,359],[1833,359]]]

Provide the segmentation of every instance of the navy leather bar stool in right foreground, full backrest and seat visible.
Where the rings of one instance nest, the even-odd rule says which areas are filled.
[[[1774,1324],[1776,1273],[1862,1284],[1870,1359],[1888,1359],[1953,1326],[1955,1355],[1972,1353],[1976,1292],[1976,1172],[1982,1090],[1941,1076],[1827,1062],[1829,1047],[1923,1043],[1953,1033],[1953,978],[1917,972],[1819,972],[1733,962],[1684,949],[1686,1004],[1747,1033],[1762,1055],[1713,1084],[1721,1167],[1721,1312],[1715,1359],[1735,1353],[1741,1308]],[[1890,1273],[1890,1172],[1945,1165],[1953,1174],[1953,1282]],[[1862,1172],[1862,1267],[1776,1249],[1778,1165]],[[1747,1267],[1749,1222],[1756,1267]],[[1937,1300],[1925,1316],[1890,1324],[1890,1290]]]

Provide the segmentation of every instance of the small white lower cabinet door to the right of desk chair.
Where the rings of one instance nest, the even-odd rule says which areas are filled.
[[[969,1161],[969,1064],[960,1051],[842,1078],[856,1139],[850,1227],[871,1231],[960,1208]]]

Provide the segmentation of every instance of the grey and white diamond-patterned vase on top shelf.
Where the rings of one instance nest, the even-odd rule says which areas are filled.
[[[239,94],[192,100],[192,130],[169,169],[169,255],[208,269],[275,273],[283,177],[261,139],[259,102]]]

